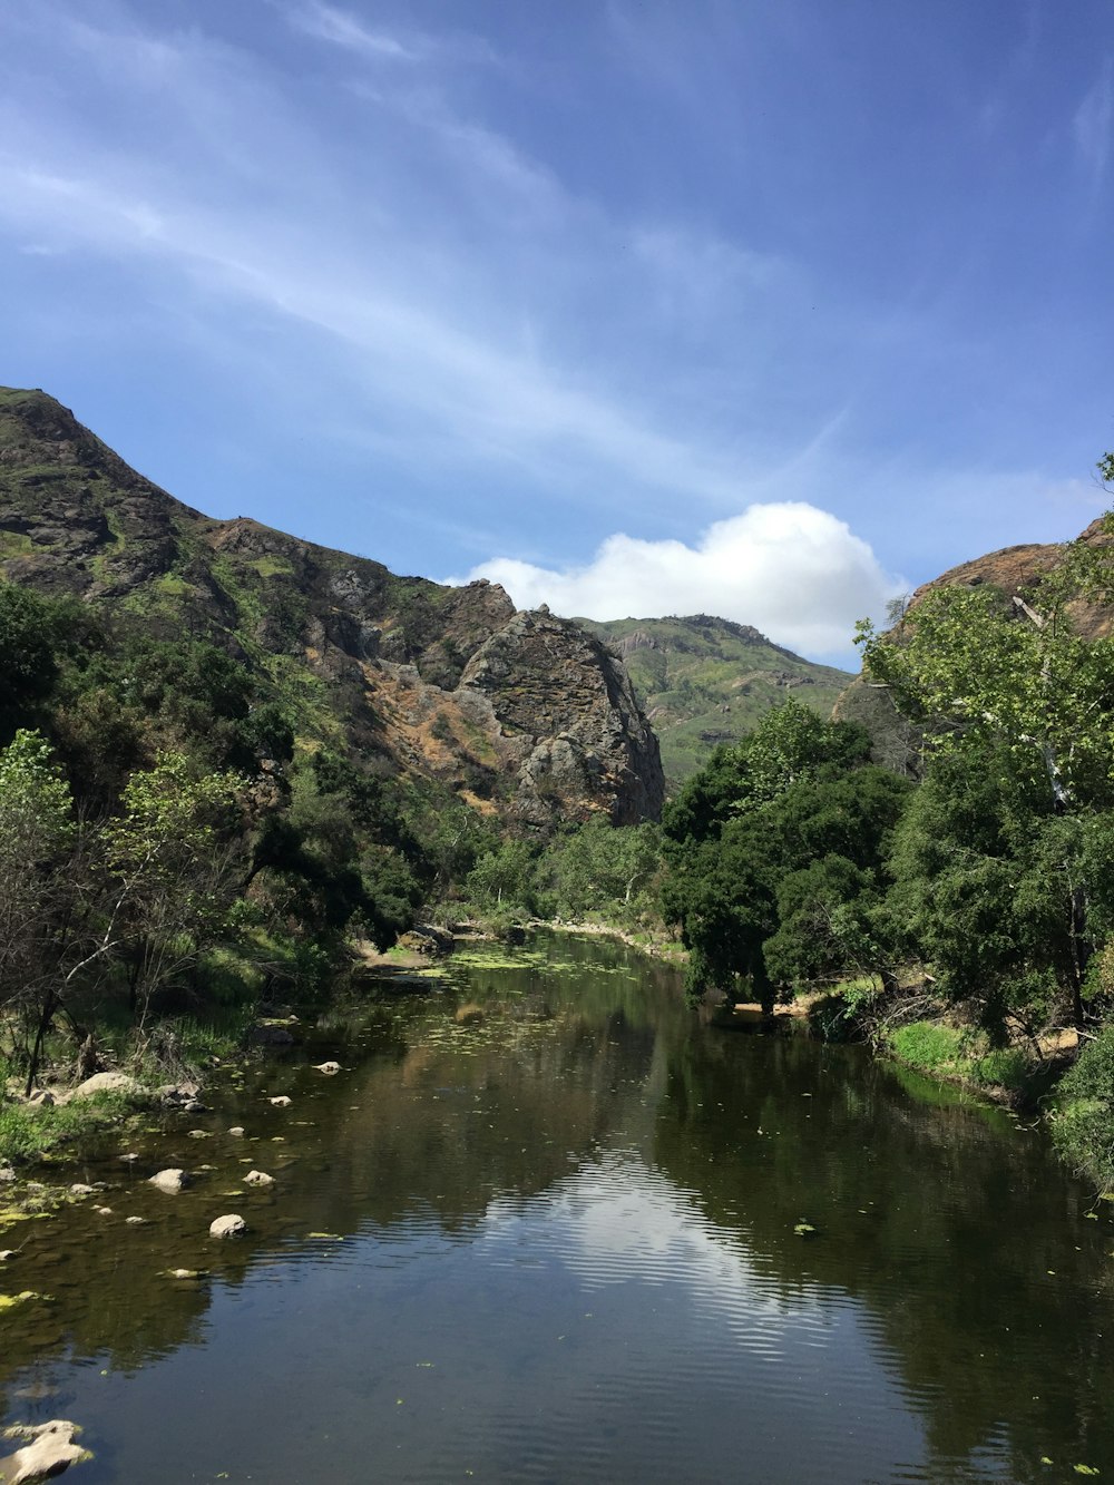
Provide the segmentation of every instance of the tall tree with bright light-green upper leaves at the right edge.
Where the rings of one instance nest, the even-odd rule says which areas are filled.
[[[1084,640],[1071,609],[1110,597],[1110,552],[1080,539],[1026,591],[939,588],[890,634],[860,625],[864,674],[925,728],[928,780],[897,858],[921,952],[998,1035],[1010,1005],[1050,1002],[1050,988],[1084,1019],[1114,640]]]

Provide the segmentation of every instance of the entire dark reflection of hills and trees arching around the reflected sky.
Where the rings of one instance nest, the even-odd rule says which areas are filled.
[[[33,1362],[48,1380],[70,1359],[132,1369],[203,1341],[211,1282],[175,1285],[166,1268],[235,1283],[328,1253],[312,1233],[468,1241],[495,1198],[527,1200],[612,1145],[657,1161],[783,1295],[857,1302],[924,1420],[934,1479],[973,1478],[973,1451],[1001,1437],[1019,1482],[1047,1478],[1043,1454],[1114,1469],[1108,1207],[1083,1219],[1037,1136],[918,1103],[857,1048],[691,1034],[673,976],[606,944],[561,940],[524,971],[455,974],[432,995],[365,1004],[348,1048],[313,1048],[351,1069],[340,1077],[267,1063],[206,1121],[212,1139],[154,1140],[132,1191],[105,1194],[111,1219],[86,1204],[6,1236],[27,1249],[4,1287],[56,1302],[4,1316],[0,1381]],[[290,1109],[270,1106],[278,1093]],[[232,1123],[260,1143],[224,1138]],[[233,1201],[245,1157],[279,1184]],[[201,1163],[217,1169],[181,1197],[140,1179]],[[128,1179],[119,1164],[79,1175]],[[245,1241],[205,1240],[226,1210],[248,1218]],[[129,1212],[149,1225],[125,1230]],[[793,1233],[801,1218],[814,1238]],[[64,1394],[6,1402],[9,1415],[64,1411]]]

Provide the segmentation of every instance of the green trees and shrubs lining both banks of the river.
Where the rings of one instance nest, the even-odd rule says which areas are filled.
[[[241,631],[0,584],[0,1142],[68,1133],[71,1111],[33,1127],[15,1097],[45,1068],[198,1068],[419,915],[590,918],[679,934],[694,995],[808,993],[826,1035],[1044,1100],[1114,1188],[1114,642],[1084,633],[1111,552],[1095,527],[1017,591],[945,584],[863,625],[900,748],[790,696],[661,826],[606,800],[560,824],[536,747],[518,803],[486,805],[370,747],[288,664],[245,664]]]

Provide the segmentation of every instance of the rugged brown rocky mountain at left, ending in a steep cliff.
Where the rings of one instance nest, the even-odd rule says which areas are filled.
[[[0,575],[209,640],[281,693],[303,747],[340,740],[518,827],[659,814],[657,738],[596,636],[487,582],[203,515],[40,391],[0,389]]]

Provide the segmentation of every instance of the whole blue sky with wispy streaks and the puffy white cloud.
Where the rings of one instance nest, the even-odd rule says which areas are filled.
[[[853,664],[1110,503],[1110,0],[0,0],[0,382],[206,514]]]

